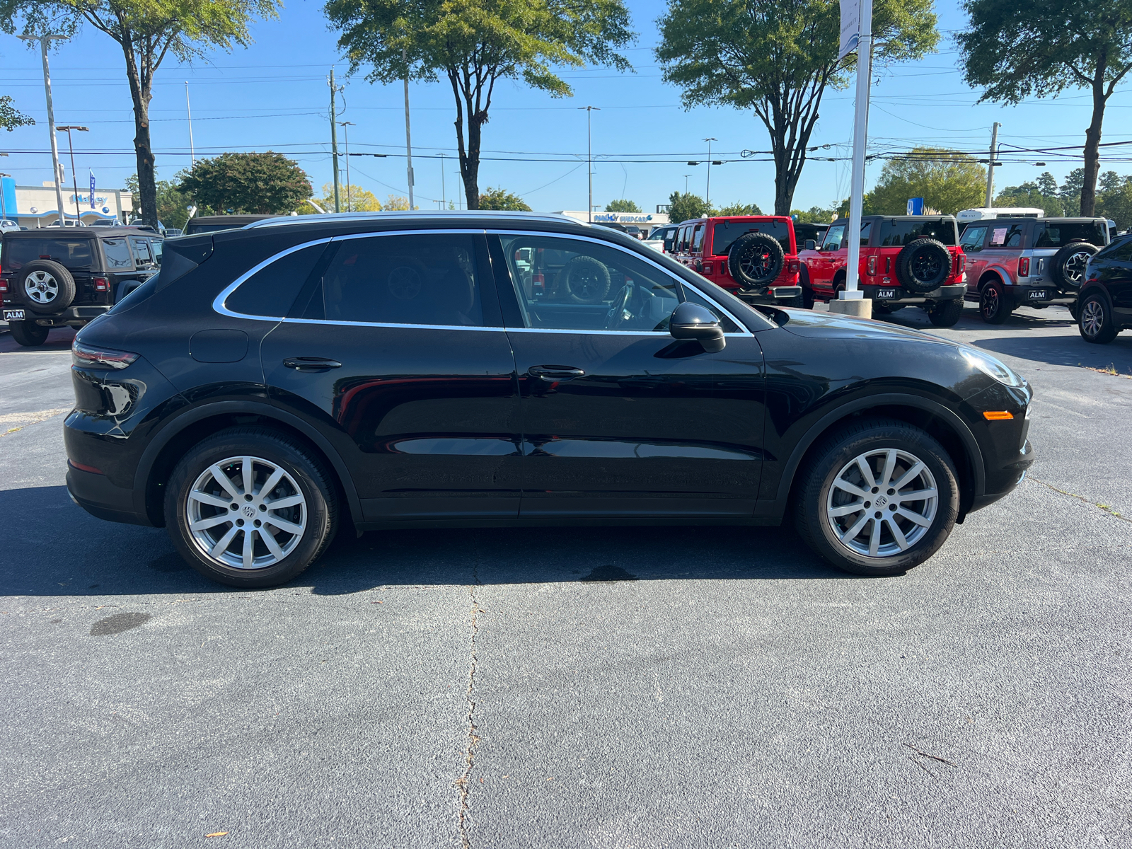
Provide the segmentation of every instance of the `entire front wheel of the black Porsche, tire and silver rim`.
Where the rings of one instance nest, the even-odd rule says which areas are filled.
[[[955,526],[959,483],[947,452],[902,421],[838,431],[799,471],[798,533],[838,568],[899,575],[934,555]]]

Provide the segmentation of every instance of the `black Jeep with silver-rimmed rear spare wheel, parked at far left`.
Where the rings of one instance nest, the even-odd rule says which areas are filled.
[[[20,345],[82,327],[157,273],[163,237],[138,228],[12,230],[0,242],[3,319]]]

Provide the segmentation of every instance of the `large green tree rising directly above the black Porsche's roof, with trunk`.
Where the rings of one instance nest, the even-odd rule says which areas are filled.
[[[522,79],[551,96],[573,94],[554,66],[629,68],[623,0],[327,0],[351,72],[371,83],[441,75],[456,102],[456,148],[468,208],[480,201],[480,138],[496,84]]]

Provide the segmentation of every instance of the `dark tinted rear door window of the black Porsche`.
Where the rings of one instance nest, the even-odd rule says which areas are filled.
[[[473,237],[344,239],[321,276],[306,318],[375,324],[480,327],[481,282]]]

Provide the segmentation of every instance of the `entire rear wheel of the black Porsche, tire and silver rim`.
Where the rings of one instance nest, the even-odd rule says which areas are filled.
[[[331,543],[337,497],[323,464],[266,428],[230,428],[178,463],[165,524],[181,556],[230,586],[285,583]]]

